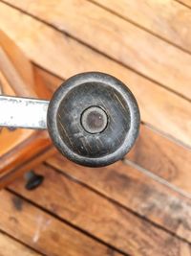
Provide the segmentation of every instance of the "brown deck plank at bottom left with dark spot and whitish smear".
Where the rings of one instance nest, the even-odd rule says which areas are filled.
[[[40,197],[38,194],[38,198]],[[121,255],[56,220],[22,198],[6,191],[0,192],[0,198],[0,229],[40,253],[47,256]]]

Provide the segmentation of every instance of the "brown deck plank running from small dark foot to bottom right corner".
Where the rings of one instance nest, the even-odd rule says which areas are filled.
[[[44,166],[35,171],[45,175],[38,190],[26,191],[21,178],[11,184],[11,190],[128,255],[190,255],[189,244],[102,198],[74,179]],[[183,247],[186,247],[186,254],[182,254]]]

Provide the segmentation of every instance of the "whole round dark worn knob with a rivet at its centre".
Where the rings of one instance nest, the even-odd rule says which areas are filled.
[[[53,94],[47,125],[54,146],[75,163],[98,167],[121,159],[133,147],[139,128],[135,97],[116,78],[78,74]]]

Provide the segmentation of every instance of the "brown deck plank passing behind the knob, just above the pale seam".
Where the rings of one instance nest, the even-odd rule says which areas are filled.
[[[37,67],[35,67],[35,72],[39,73],[50,89],[55,90],[62,82]],[[191,151],[152,128],[142,124],[140,126],[138,141],[126,158],[180,187],[185,192],[191,193]]]

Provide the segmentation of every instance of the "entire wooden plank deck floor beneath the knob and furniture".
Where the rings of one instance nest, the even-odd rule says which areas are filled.
[[[59,153],[0,192],[0,256],[191,256],[191,1],[0,0],[0,29],[53,90],[84,71],[126,82],[138,142],[106,168]]]

